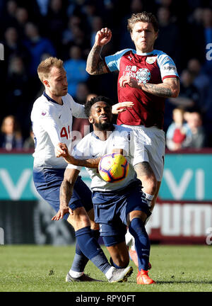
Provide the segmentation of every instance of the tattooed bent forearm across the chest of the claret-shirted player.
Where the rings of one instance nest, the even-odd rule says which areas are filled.
[[[153,94],[155,96],[160,96],[163,98],[177,98],[177,96],[179,95],[179,79],[177,78],[164,79],[163,83],[160,84],[142,84],[132,77],[123,76],[119,79],[119,86],[125,87],[126,85],[142,89],[143,91],[146,91],[149,94]]]

